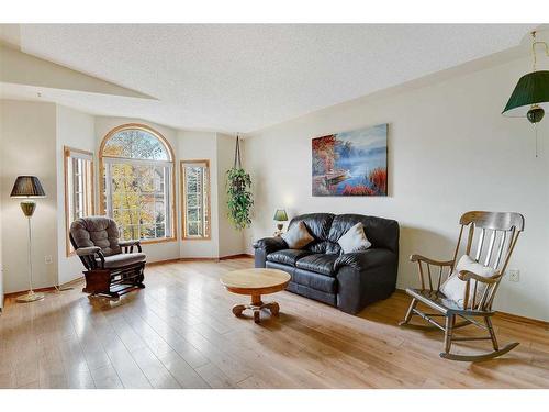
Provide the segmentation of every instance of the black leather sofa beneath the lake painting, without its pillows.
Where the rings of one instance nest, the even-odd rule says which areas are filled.
[[[295,216],[315,238],[303,249],[290,249],[282,237],[254,244],[255,266],[291,275],[287,290],[339,308],[360,312],[367,304],[386,299],[395,290],[399,267],[399,223],[361,214],[311,213]],[[362,222],[372,246],[343,254],[337,241]]]

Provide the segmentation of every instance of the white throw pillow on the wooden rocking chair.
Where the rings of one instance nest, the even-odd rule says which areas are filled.
[[[458,305],[463,307],[463,299],[466,297],[466,281],[458,278],[458,274],[461,270],[469,270],[475,275],[482,276],[484,278],[489,278],[494,276],[495,270],[491,267],[484,266],[474,261],[470,256],[463,255],[456,265],[456,269],[453,269],[450,277],[440,286],[440,291],[446,294],[448,299],[453,300]],[[477,302],[482,297],[484,289],[486,286],[484,283],[479,282],[477,286]],[[471,281],[469,286],[469,299],[472,299],[474,290],[474,281]]]

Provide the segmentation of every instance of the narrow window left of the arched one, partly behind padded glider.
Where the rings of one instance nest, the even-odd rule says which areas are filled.
[[[74,253],[68,234],[78,218],[93,214],[93,153],[64,147],[65,154],[65,222],[67,256]]]

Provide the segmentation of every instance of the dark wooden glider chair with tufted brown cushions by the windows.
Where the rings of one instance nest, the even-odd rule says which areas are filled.
[[[70,225],[69,237],[87,269],[83,271],[86,287],[82,292],[119,298],[134,289],[145,288],[146,256],[139,241],[119,241],[119,229],[112,219],[79,218]]]

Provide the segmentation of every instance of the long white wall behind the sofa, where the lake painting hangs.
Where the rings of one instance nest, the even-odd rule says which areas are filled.
[[[271,235],[274,209],[290,218],[305,212],[363,213],[401,224],[397,287],[417,286],[407,257],[450,258],[458,220],[468,210],[517,211],[526,218],[509,268],[520,281],[502,282],[495,308],[549,320],[549,119],[540,124],[540,156],[525,119],[500,113],[518,78],[519,59],[475,73],[362,98],[254,133],[246,166],[255,182],[250,238]],[[366,76],[367,74],[365,74]],[[389,123],[386,198],[311,196],[311,138]]]

